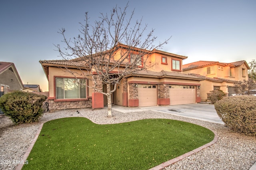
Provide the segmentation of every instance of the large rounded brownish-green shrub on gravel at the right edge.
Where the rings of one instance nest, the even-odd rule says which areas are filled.
[[[214,104],[226,126],[246,135],[256,136],[256,97],[234,96]]]

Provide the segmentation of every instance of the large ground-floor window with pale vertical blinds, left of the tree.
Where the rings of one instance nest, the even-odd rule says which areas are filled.
[[[56,78],[56,99],[86,98],[86,79]]]

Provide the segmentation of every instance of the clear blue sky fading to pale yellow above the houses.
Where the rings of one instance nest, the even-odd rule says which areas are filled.
[[[39,60],[61,60],[54,44],[58,29],[78,35],[88,12],[90,22],[127,0],[4,0],[0,2],[0,61],[13,62],[23,84],[48,80]],[[256,0],[130,0],[128,16],[155,29],[157,42],[172,36],[163,51],[199,60],[235,62],[256,59]],[[54,50],[55,49],[55,50]]]

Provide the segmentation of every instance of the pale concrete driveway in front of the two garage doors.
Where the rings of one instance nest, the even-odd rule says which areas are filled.
[[[186,118],[204,120],[207,122],[214,122],[218,124],[224,124],[222,120],[219,118],[215,108],[210,104],[182,104],[182,105],[174,105],[174,106],[150,106],[150,107],[139,107],[139,108],[131,108],[124,109],[122,106],[113,106],[113,110],[117,110],[119,112],[139,112],[145,110],[153,110],[156,112],[163,112],[167,114],[173,114],[177,116],[183,116]]]

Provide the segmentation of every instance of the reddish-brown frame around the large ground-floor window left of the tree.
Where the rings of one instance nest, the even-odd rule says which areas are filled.
[[[86,80],[86,91],[85,91],[85,96],[86,98],[58,98],[57,99],[57,78],[70,78],[70,79],[82,79],[82,80]],[[80,93],[80,88],[79,88],[79,93]],[[65,95],[65,92],[64,92],[64,95]],[[66,76],[54,76],[54,102],[72,102],[72,101],[86,101],[86,100],[89,100],[88,99],[89,96],[88,96],[88,78],[82,78],[82,77],[66,77]]]

